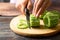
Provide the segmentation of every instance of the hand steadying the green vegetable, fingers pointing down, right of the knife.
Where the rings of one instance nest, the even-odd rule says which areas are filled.
[[[35,0],[33,7],[33,15],[39,17],[46,8],[48,8],[51,4],[50,0]]]

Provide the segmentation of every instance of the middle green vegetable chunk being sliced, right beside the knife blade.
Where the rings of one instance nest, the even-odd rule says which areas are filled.
[[[30,26],[38,28],[40,26],[40,19],[36,18],[34,15],[30,15]]]

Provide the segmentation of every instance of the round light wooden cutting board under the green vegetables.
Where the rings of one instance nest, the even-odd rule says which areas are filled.
[[[58,24],[55,28],[52,28],[52,29],[45,29],[43,28],[43,26],[40,26],[40,28],[27,28],[27,29],[18,29],[17,28],[17,23],[18,23],[18,20],[20,18],[25,18],[25,16],[23,15],[20,15],[20,16],[17,16],[15,18],[13,18],[10,22],[10,28],[13,32],[19,34],[19,35],[23,35],[23,36],[51,36],[51,35],[54,35],[56,34],[57,32],[59,32],[60,30],[60,24]],[[43,21],[41,20],[40,21],[40,24],[41,25],[44,25]]]

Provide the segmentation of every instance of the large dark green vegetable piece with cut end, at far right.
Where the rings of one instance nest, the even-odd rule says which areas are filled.
[[[54,12],[47,12],[43,17],[44,25],[47,28],[55,27],[58,24],[59,16]]]

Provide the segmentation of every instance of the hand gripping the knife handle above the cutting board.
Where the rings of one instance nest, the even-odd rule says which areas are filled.
[[[32,9],[32,2],[31,0],[17,0],[16,8],[22,13],[25,14],[25,7],[31,11]]]

